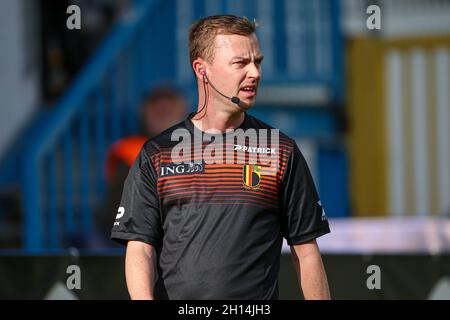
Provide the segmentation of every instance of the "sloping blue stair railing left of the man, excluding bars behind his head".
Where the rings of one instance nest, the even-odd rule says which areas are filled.
[[[21,179],[27,252],[58,249],[69,238],[92,234],[93,209],[105,192],[106,147],[136,131],[139,99],[153,80],[143,52],[152,42],[147,27],[162,22],[153,14],[160,6],[135,1],[26,139]]]

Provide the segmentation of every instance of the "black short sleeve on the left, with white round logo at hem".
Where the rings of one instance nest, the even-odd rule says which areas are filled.
[[[142,241],[159,247],[162,240],[157,175],[144,148],[125,179],[111,239],[121,244]]]

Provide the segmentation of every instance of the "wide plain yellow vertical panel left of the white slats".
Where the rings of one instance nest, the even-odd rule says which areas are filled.
[[[355,39],[349,45],[350,184],[355,216],[386,213],[386,123],[383,45]]]

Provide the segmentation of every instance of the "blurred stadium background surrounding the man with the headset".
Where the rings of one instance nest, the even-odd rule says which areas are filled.
[[[308,161],[332,296],[450,299],[447,0],[0,0],[0,298],[128,298],[107,239],[121,179],[157,123],[196,108],[188,28],[213,14],[259,24],[250,113]],[[280,298],[301,298],[283,252]]]

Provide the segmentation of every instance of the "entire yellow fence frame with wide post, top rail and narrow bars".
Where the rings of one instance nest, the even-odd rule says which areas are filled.
[[[385,215],[388,199],[387,123],[385,114],[384,56],[390,49],[400,50],[402,60],[404,133],[405,133],[405,208],[413,212],[415,205],[413,170],[413,135],[411,110],[410,51],[427,51],[438,46],[450,47],[450,35],[406,39],[355,38],[348,42],[347,88],[350,130],[350,186],[352,212],[355,216]],[[427,56],[427,103],[429,105],[429,150],[432,211],[437,212],[436,163],[436,97],[435,74]]]

